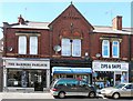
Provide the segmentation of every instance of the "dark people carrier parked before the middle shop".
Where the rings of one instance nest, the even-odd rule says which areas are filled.
[[[96,90],[83,80],[62,78],[57,79],[50,88],[54,98],[65,98],[68,95],[85,95],[94,98]]]

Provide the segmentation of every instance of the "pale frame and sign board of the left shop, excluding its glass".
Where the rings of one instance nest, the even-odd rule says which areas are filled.
[[[47,88],[50,88],[50,60],[49,59],[21,59],[21,58],[3,58],[3,91],[7,87],[7,69],[39,69],[47,70]],[[47,89],[45,88],[45,89]],[[34,88],[14,88],[16,90],[33,90]]]

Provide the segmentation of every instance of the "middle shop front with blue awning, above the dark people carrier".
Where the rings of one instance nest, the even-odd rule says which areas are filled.
[[[75,67],[53,67],[52,75],[53,79],[58,78],[75,78],[91,83],[91,68],[75,68]]]

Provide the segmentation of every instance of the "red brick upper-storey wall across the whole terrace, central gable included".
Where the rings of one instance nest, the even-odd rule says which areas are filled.
[[[121,20],[121,19],[120,19]],[[85,52],[92,59],[96,59],[95,54],[102,54],[102,36],[112,37],[117,36],[122,39],[120,43],[120,59],[127,60],[129,58],[129,37],[117,33],[92,33],[93,27],[81,16],[81,13],[71,4],[66,8],[62,14],[60,14],[55,20],[53,20],[50,24],[52,27],[51,31],[49,30],[37,30],[37,29],[7,29],[6,33],[6,46],[13,47],[14,50],[9,52],[6,51],[4,55],[17,57],[18,55],[18,37],[16,36],[16,31],[23,30],[23,31],[39,31],[41,36],[39,37],[39,55],[40,58],[49,58],[54,57],[55,51],[53,50],[54,46],[61,46],[62,37],[75,38],[79,37],[80,33],[81,38],[81,48],[82,53],[81,57],[84,58]],[[65,33],[64,33],[65,31]],[[74,34],[78,32],[78,34]],[[133,40],[133,37],[132,37]],[[133,42],[133,41],[132,41]],[[112,47],[112,46],[111,46]],[[28,48],[29,49],[29,48]],[[29,52],[29,50],[28,50]],[[7,54],[9,53],[9,54]],[[110,51],[112,53],[112,51]],[[132,47],[133,53],[133,47]],[[61,55],[61,52],[59,52]],[[28,57],[31,57],[28,54]],[[78,59],[78,58],[76,58]],[[102,59],[102,58],[101,58]],[[112,55],[111,58],[112,59]]]

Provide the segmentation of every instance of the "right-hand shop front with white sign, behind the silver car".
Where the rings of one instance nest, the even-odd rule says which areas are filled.
[[[99,88],[113,87],[122,82],[129,82],[129,63],[126,62],[102,62],[92,63],[94,83]]]

